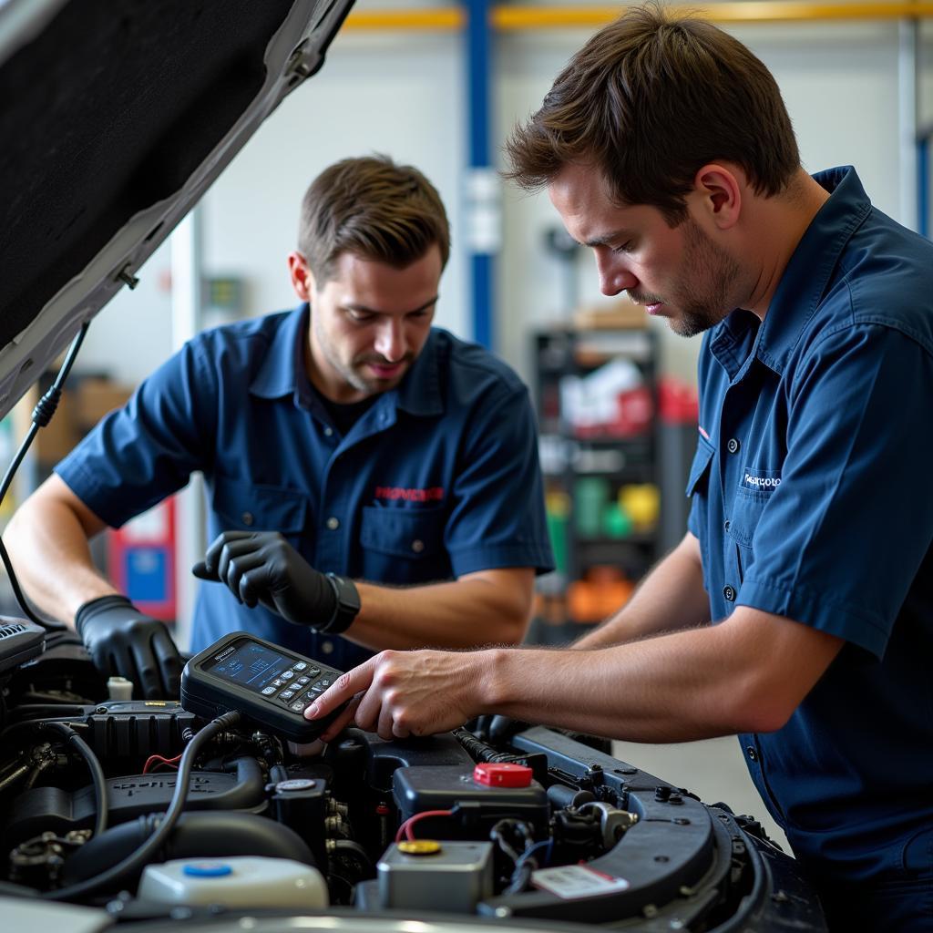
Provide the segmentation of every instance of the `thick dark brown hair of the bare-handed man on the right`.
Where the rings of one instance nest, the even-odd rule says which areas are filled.
[[[737,39],[660,4],[601,29],[506,144],[522,188],[592,162],[620,204],[650,204],[674,226],[709,161],[740,165],[759,194],[787,188],[800,154],[772,74]]]

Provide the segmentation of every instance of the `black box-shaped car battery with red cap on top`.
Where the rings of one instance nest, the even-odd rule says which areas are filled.
[[[489,829],[504,817],[532,824],[543,835],[549,818],[548,795],[532,779],[531,769],[513,764],[479,764],[472,771],[461,765],[398,768],[392,792],[402,821],[427,810],[459,807],[455,820],[425,818],[426,836],[475,838],[476,829]],[[484,833],[483,833],[484,835]]]

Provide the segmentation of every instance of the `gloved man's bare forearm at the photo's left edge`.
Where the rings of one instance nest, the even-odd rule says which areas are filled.
[[[88,536],[69,508],[28,500],[4,541],[24,591],[55,619],[70,624],[79,606],[118,592],[94,566]]]

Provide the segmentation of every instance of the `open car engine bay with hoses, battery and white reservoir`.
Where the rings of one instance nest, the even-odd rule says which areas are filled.
[[[74,634],[21,620],[0,622],[0,693],[5,907],[88,905],[99,928],[128,930],[298,915],[343,929],[825,929],[756,821],[603,740],[480,723],[293,745],[177,701],[110,699]],[[147,852],[180,767],[183,806]]]

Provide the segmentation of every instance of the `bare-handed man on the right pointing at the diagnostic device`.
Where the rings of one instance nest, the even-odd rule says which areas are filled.
[[[829,926],[933,929],[933,244],[854,169],[807,174],[764,65],[659,7],[594,35],[508,149],[606,295],[703,332],[689,531],[573,650],[385,652],[306,715],[738,733]]]

